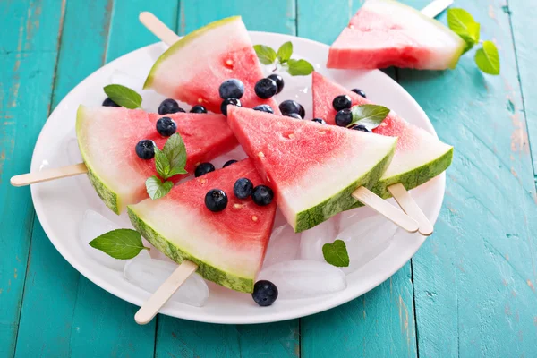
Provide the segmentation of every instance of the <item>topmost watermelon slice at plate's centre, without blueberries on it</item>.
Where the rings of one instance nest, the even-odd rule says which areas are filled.
[[[356,204],[355,189],[384,173],[396,138],[229,107],[227,121],[295,232]]]

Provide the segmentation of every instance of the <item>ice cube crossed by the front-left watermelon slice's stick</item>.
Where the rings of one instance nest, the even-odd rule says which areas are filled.
[[[137,256],[125,265],[124,277],[133,285],[153,294],[175,271],[175,268],[177,265],[174,263]],[[207,283],[200,275],[194,273],[175,291],[170,300],[202,307],[208,298]]]

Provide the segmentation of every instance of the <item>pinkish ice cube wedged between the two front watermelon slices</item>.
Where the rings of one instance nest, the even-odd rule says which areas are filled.
[[[300,236],[301,234],[294,234],[293,227],[287,223],[277,226],[270,235],[263,267],[267,268],[277,262],[296,259]]]

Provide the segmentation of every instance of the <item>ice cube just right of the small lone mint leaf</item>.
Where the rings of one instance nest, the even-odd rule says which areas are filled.
[[[339,234],[337,240],[343,240],[349,254],[349,266],[342,268],[346,274],[373,260],[380,252],[386,250],[395,236],[397,226],[386,217],[362,218],[353,225],[347,226]]]

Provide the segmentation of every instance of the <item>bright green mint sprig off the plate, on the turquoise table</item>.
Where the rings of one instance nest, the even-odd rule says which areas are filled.
[[[465,53],[482,42],[482,48],[479,48],[475,53],[475,64],[482,72],[493,75],[499,74],[498,47],[491,41],[480,41],[481,25],[473,19],[470,13],[464,9],[448,9],[447,26],[465,40]]]

